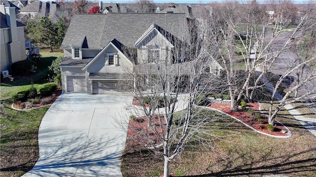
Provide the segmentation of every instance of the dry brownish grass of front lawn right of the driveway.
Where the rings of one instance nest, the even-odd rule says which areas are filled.
[[[262,177],[283,174],[289,177],[316,176],[316,137],[285,116],[277,119],[293,136],[276,139],[233,122],[221,130],[222,140],[209,149],[187,147],[170,165],[170,173],[181,177]],[[211,126],[210,126],[211,128]],[[162,156],[126,143],[121,166],[124,177],[157,177],[163,173]]]

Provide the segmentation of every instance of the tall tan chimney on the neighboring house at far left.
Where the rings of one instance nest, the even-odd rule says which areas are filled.
[[[16,28],[15,7],[5,7],[6,22],[10,27],[12,42],[18,41],[18,30]]]

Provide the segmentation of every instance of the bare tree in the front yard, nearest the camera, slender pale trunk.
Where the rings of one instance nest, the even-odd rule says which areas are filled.
[[[206,126],[218,118],[215,114],[203,115],[202,108],[196,105],[201,102],[202,93],[211,88],[209,83],[217,81],[209,68],[216,62],[209,52],[216,50],[209,48],[195,21],[181,30],[190,35],[176,38],[161,30],[173,47],[164,38],[157,38],[146,49],[140,49],[136,65],[127,69],[134,83],[123,84],[130,85],[128,90],[138,103],[127,107],[132,118],[135,122],[148,121],[141,127],[136,123],[133,131],[146,148],[163,156],[164,177],[168,177],[169,162],[190,139],[209,147],[211,139],[205,137],[212,136],[212,130]],[[164,48],[161,53],[156,50],[158,47]]]

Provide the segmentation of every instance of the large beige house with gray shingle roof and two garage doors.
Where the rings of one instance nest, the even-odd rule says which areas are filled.
[[[124,92],[120,81],[133,84],[131,71],[150,71],[154,57],[189,74],[182,53],[192,42],[193,21],[178,13],[75,14],[61,44],[63,91]]]

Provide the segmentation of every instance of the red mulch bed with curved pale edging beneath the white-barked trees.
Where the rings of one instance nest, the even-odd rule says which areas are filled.
[[[258,123],[258,120],[255,120],[256,118],[254,115],[250,115],[248,112],[242,111],[242,110],[232,111],[230,110],[230,105],[212,103],[212,105],[209,107],[219,109],[231,116],[234,116],[238,118],[239,120],[241,120],[243,123],[246,123],[247,125],[251,126],[252,128],[260,132],[270,134],[270,135],[275,135],[275,136],[287,136],[287,134],[281,133],[281,130],[285,129],[285,127],[278,123],[276,123],[276,125],[274,126],[275,128],[274,131],[267,130],[267,125],[269,124],[268,124],[268,118],[265,118],[265,115],[261,116],[262,118],[264,118],[264,123],[260,124]],[[258,103],[247,103],[247,107],[251,108],[254,112],[259,113]]]

